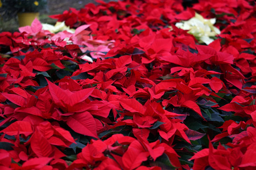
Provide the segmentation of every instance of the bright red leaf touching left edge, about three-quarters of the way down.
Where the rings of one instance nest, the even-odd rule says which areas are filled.
[[[7,128],[0,131],[0,133],[5,133],[7,135],[17,135],[24,134],[26,136],[32,134],[34,131],[32,130],[30,122],[24,121],[16,121]]]

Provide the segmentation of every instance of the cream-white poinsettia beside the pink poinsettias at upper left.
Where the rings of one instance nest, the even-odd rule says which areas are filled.
[[[60,31],[67,31],[70,33],[75,33],[75,29],[70,29],[65,25],[65,22],[57,22],[54,26],[51,24],[42,24],[44,30],[48,30],[51,33],[57,33]]]

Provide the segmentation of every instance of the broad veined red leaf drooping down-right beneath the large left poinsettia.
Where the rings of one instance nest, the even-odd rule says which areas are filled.
[[[98,138],[96,122],[89,112],[73,114],[68,118],[67,125],[77,133]]]

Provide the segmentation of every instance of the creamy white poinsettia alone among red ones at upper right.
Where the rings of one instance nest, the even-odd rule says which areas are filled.
[[[220,34],[220,29],[213,26],[215,22],[216,18],[204,19],[202,15],[196,13],[195,17],[187,21],[176,23],[175,26],[189,30],[188,33],[195,36],[199,42],[205,42],[205,44],[208,45],[210,42],[214,41],[211,37]]]

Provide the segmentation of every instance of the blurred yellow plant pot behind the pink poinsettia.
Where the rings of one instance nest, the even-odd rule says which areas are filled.
[[[35,18],[39,19],[39,12],[18,13],[19,27],[31,25]]]

